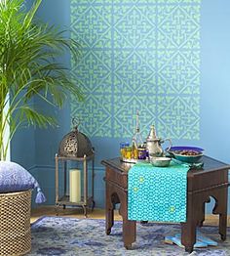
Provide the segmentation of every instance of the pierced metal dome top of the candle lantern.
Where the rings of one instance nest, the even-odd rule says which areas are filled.
[[[91,141],[84,134],[78,131],[76,125],[72,132],[66,134],[59,144],[58,156],[84,157],[94,154]]]

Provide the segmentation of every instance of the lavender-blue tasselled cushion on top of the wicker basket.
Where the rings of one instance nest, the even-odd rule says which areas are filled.
[[[21,192],[37,189],[36,203],[46,201],[36,179],[18,163],[0,161],[0,192]]]

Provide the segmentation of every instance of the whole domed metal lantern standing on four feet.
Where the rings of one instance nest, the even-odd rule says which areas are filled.
[[[95,153],[89,138],[85,134],[78,131],[78,125],[76,124],[74,118],[72,120],[72,123],[74,125],[73,131],[66,134],[63,137],[63,139],[59,144],[58,153],[56,154],[56,206],[57,206],[56,210],[58,214],[59,206],[63,206],[63,208],[65,208],[65,206],[82,206],[84,209],[84,215],[85,217],[87,217],[88,207],[91,205],[92,210],[95,207],[95,200],[94,200]],[[70,191],[69,191],[70,185],[69,187],[67,186],[67,182],[68,182],[67,175],[70,175],[70,172],[68,170],[68,162],[72,162],[72,161],[80,162],[82,163],[82,166],[83,166],[83,170],[82,170],[83,194],[81,193],[81,189],[80,189],[80,198],[74,199],[74,200],[73,198],[71,199],[71,196],[70,196]],[[88,171],[88,162],[90,161],[92,162],[91,182],[89,180],[89,171]],[[61,162],[62,162],[62,165],[59,164]],[[63,177],[63,179],[59,179],[59,177]],[[71,179],[69,179],[69,182],[70,181]],[[59,186],[60,184],[61,186]],[[80,184],[81,184],[81,178],[80,178]],[[78,186],[78,188],[81,188],[81,187]]]

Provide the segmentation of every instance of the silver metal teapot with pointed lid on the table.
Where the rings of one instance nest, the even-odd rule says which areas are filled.
[[[172,147],[171,139],[167,138],[162,140],[161,138],[157,138],[156,131],[154,125],[151,125],[149,135],[146,140],[146,149],[148,150],[149,156],[159,157],[164,155],[164,150],[161,145],[166,141],[170,142],[170,146],[168,149]]]

